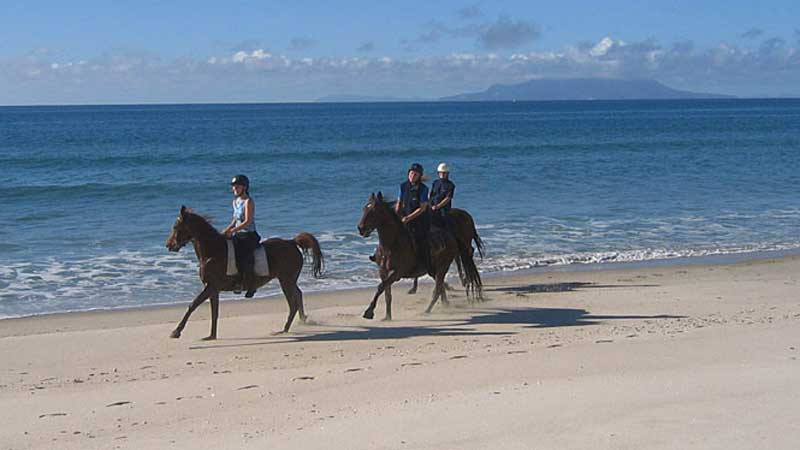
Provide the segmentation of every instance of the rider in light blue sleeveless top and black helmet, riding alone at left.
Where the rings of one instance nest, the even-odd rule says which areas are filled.
[[[256,293],[256,290],[252,288],[255,279],[253,251],[261,241],[261,236],[256,231],[256,204],[250,197],[250,180],[245,175],[233,177],[231,190],[236,196],[233,199],[233,221],[222,233],[233,239],[233,246],[236,249],[236,267],[241,274],[242,286],[247,288],[245,297],[250,298]]]

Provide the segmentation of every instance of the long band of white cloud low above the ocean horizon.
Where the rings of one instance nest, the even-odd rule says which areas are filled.
[[[606,36],[557,51],[410,59],[292,58],[256,48],[204,59],[122,51],[67,60],[36,51],[0,60],[0,104],[293,101],[342,92],[439,97],[493,83],[570,77],[654,78],[681,89],[800,95],[797,45],[774,38],[755,44],[697,48],[691,42],[662,45]]]

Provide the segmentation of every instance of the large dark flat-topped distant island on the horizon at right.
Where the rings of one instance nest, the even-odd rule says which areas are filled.
[[[667,100],[736,98],[731,95],[679,91],[655,80],[573,78],[495,84],[483,92],[452,95],[445,102],[507,102],[542,100]]]

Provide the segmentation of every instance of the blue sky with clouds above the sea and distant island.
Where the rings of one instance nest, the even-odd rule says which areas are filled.
[[[435,99],[586,77],[800,97],[800,2],[0,0],[0,105]]]

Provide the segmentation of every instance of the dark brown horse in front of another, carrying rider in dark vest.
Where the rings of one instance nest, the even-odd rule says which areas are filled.
[[[375,305],[378,297],[386,293],[386,317],[384,320],[392,319],[392,283],[401,278],[414,278],[425,275],[433,277],[436,286],[433,289],[433,298],[430,305],[425,310],[429,313],[436,304],[439,297],[442,303],[447,304],[447,293],[444,289],[444,277],[450,269],[450,264],[456,258],[461,258],[464,266],[464,280],[467,295],[481,295],[481,278],[475,263],[472,260],[468,248],[459,243],[450,233],[443,233],[442,241],[444,245],[439,248],[432,248],[430,254],[430,270],[419,267],[414,243],[408,229],[400,221],[389,202],[383,199],[383,194],[371,194],[367,204],[364,205],[364,212],[358,223],[358,232],[363,237],[368,237],[372,231],[378,230],[378,251],[376,259],[378,262],[378,272],[381,282],[372,302],[364,311],[364,318],[374,317]],[[436,246],[432,246],[436,247]]]

